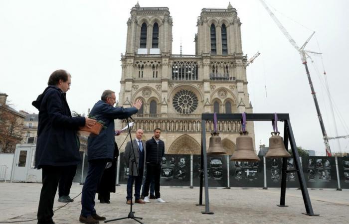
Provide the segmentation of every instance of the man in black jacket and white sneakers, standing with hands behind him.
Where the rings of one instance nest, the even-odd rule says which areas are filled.
[[[163,156],[165,154],[165,143],[160,140],[161,129],[154,129],[154,136],[146,142],[146,164],[147,164],[147,176],[146,182],[144,184],[144,201],[150,203],[149,186],[152,178],[155,182],[155,197],[156,201],[160,203],[165,203],[160,197],[160,175],[161,175],[161,164],[163,161]]]

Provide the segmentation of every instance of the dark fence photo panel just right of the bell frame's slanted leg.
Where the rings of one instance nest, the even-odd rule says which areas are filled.
[[[337,188],[335,157],[303,157],[302,165],[308,188]]]

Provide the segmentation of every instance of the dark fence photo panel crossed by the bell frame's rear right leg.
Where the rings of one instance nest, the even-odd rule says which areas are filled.
[[[261,159],[263,161],[263,158]],[[280,188],[281,187],[281,171],[282,158],[266,158],[265,159],[267,187]],[[287,170],[295,170],[295,163],[292,157],[287,158]],[[299,188],[299,181],[297,171],[287,172],[286,187]]]

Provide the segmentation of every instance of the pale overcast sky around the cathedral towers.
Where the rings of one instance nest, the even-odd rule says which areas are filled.
[[[127,3],[126,3],[127,2]],[[348,0],[266,0],[299,46],[316,31],[306,49],[309,68],[328,135],[335,136],[323,63],[335,105],[339,135],[349,124]],[[0,92],[17,110],[36,112],[31,102],[47,86],[49,75],[65,69],[72,75],[67,100],[72,111],[87,112],[105,89],[120,91],[121,53],[125,53],[127,20],[136,0],[1,0]],[[227,8],[224,0],[140,0],[141,7],[166,6],[173,17],[173,54],[194,54],[196,20],[202,8]],[[298,146],[325,155],[325,147],[299,53],[288,42],[259,0],[232,0],[240,17],[242,49],[255,113],[290,113]],[[276,10],[274,10],[276,9]],[[283,123],[279,123],[281,131]],[[269,144],[270,122],[255,122],[256,147]],[[340,141],[349,152],[349,139]],[[332,151],[339,151],[331,140]]]

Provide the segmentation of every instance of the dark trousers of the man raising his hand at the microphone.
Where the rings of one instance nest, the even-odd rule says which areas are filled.
[[[99,181],[102,178],[107,160],[96,159],[89,161],[87,177],[82,188],[81,215],[84,217],[96,214],[95,197]]]

